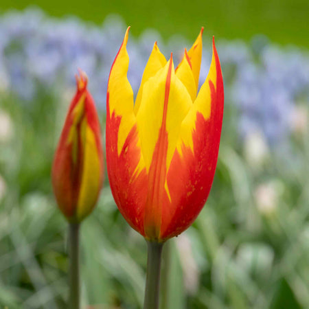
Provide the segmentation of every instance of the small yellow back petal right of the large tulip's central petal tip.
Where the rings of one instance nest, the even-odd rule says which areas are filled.
[[[176,76],[185,85],[187,91],[191,96],[192,102],[194,102],[194,100],[196,99],[197,85],[194,80],[191,61],[189,55],[187,54],[186,49],[185,49],[185,56],[183,56],[183,60],[181,60],[181,63],[176,68]]]

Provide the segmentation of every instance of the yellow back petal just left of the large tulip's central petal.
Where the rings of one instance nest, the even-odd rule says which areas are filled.
[[[141,104],[141,97],[145,82],[147,82],[147,80],[152,76],[155,76],[157,71],[159,71],[159,69],[161,69],[165,65],[166,65],[166,59],[163,56],[163,54],[161,54],[157,42],[155,42],[155,45],[153,45],[152,52],[149,56],[147,65],[145,67],[143,77],[141,78],[141,85],[139,87],[139,92],[137,93],[134,106],[135,115],[137,115],[137,111],[139,110],[139,106]]]

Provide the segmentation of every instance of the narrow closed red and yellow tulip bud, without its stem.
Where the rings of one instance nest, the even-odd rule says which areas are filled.
[[[77,91],[62,129],[52,167],[58,206],[69,222],[80,222],[95,207],[103,182],[100,122],[87,76],[76,76]]]

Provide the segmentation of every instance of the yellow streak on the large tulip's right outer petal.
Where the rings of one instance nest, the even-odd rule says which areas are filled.
[[[211,65],[209,68],[208,76],[202,85],[200,91],[198,92],[198,96],[192,105],[189,113],[185,119],[183,119],[183,123],[181,124],[181,133],[179,135],[179,140],[177,141],[177,150],[180,155],[182,155],[182,146],[190,147],[193,151],[193,140],[192,133],[195,130],[195,122],[196,122],[196,113],[202,113],[205,119],[209,119],[211,112],[211,92],[209,88],[209,80],[213,82],[214,87],[216,89],[216,59],[214,57],[214,45],[213,45],[213,54],[211,59]]]

